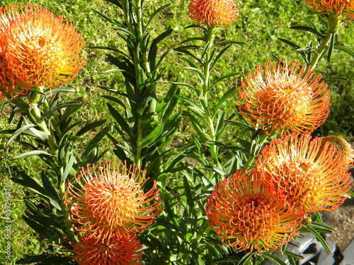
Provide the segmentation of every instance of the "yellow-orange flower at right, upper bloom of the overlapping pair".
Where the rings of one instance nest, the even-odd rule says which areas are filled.
[[[310,134],[290,134],[265,146],[258,168],[263,184],[273,184],[288,204],[307,213],[333,211],[350,189],[348,164],[328,142]]]

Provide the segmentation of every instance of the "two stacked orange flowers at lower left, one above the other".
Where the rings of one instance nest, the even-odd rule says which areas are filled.
[[[76,261],[107,264],[105,259],[115,257],[112,260],[117,262],[110,264],[137,264],[141,255],[136,253],[140,247],[135,233],[143,232],[159,212],[156,182],[144,192],[145,172],[115,160],[82,168],[74,178],[76,183],[68,182],[64,201],[71,212],[69,220],[81,235],[74,244],[73,252],[82,254]],[[135,257],[131,263],[123,259],[127,255]]]

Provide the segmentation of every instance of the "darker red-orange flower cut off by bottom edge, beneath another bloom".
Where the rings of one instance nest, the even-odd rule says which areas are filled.
[[[67,240],[66,240],[67,241]],[[75,254],[74,261],[79,265],[137,265],[142,260],[142,245],[137,235],[117,237],[112,235],[110,242],[96,242],[95,237],[80,237],[79,242],[68,242]]]

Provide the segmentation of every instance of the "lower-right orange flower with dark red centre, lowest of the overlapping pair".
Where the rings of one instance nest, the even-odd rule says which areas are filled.
[[[236,249],[277,249],[297,235],[303,213],[273,195],[271,185],[261,184],[260,172],[236,171],[207,199],[210,225],[225,245]]]

